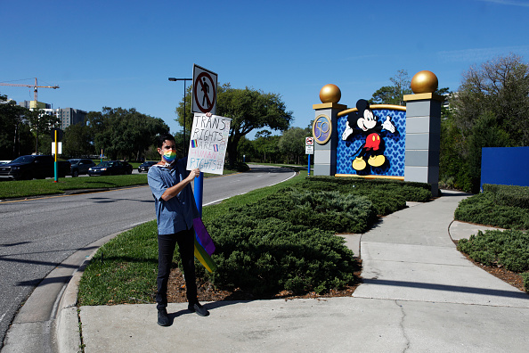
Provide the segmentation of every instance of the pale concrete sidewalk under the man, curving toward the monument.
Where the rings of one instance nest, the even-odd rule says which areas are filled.
[[[525,352],[529,295],[452,242],[484,228],[452,223],[464,197],[444,192],[362,234],[364,283],[351,298],[204,303],[208,317],[169,304],[169,327],[156,324],[154,304],[82,307],[85,352]],[[354,239],[347,243],[357,252]],[[70,301],[76,288],[74,280]],[[69,300],[58,325],[63,352],[78,350]]]

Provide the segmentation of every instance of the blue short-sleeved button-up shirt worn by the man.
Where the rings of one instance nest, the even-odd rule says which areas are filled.
[[[191,229],[193,218],[199,217],[195,204],[191,183],[169,201],[162,200],[165,191],[189,176],[185,169],[187,159],[175,160],[172,168],[152,166],[149,168],[147,179],[154,196],[158,234],[175,234]]]

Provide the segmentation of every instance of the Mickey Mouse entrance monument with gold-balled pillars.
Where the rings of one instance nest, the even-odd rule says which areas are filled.
[[[339,103],[338,86],[323,86],[321,103],[313,105],[313,175],[428,183],[437,196],[444,101],[437,86],[433,72],[419,71],[413,94],[403,96],[405,107],[359,99],[354,108]]]

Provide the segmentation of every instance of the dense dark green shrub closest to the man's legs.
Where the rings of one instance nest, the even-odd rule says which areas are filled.
[[[217,270],[210,275],[216,286],[260,296],[283,289],[321,292],[353,283],[353,251],[333,232],[238,214],[217,218],[208,229],[217,248]]]

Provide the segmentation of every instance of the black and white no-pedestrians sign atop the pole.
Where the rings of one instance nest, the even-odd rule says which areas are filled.
[[[193,65],[191,112],[216,114],[216,73]]]

